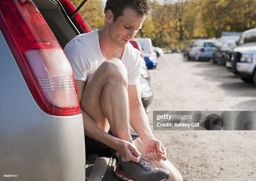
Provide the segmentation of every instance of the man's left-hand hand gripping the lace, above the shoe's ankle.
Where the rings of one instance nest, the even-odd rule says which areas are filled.
[[[132,160],[138,163],[140,160],[141,153],[129,141],[120,140],[119,146],[115,150],[118,151],[125,161]]]

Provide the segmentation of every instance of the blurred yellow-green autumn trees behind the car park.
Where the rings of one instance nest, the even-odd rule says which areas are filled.
[[[82,0],[71,2],[78,6]],[[153,13],[136,37],[149,37],[155,46],[179,46],[194,38],[220,38],[223,31],[256,28],[256,0],[152,0],[150,4]],[[102,28],[102,1],[88,0],[84,6],[79,13],[89,26]]]

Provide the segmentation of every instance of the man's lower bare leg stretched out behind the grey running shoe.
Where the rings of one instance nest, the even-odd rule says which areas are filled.
[[[144,144],[141,141],[141,139],[140,138],[135,139],[134,143],[136,144],[137,149],[142,153],[142,155],[146,155],[145,149],[144,149]],[[170,179],[168,179],[168,181],[181,181],[181,180],[183,180],[182,175],[179,173],[177,168],[175,168],[174,165],[170,161],[161,160],[160,162],[158,162],[158,161],[155,160],[155,161],[152,161],[152,162],[154,163],[154,165],[157,168],[166,169],[172,174],[172,177]]]

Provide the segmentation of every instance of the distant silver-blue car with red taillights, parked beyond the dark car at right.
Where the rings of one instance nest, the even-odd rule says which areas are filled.
[[[220,48],[221,42],[218,40],[203,40],[198,39],[192,41],[190,49],[187,52],[188,59],[195,61],[210,60],[213,53]]]

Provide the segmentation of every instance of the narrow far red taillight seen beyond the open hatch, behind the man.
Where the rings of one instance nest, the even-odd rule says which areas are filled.
[[[68,1],[68,0],[59,0],[61,3],[63,3],[69,10],[69,12],[72,14],[75,12],[76,8]],[[83,19],[83,17],[77,13],[74,18],[78,22],[79,26],[82,28],[84,33],[89,33],[91,32],[91,28],[89,25],[86,23],[86,21]]]

